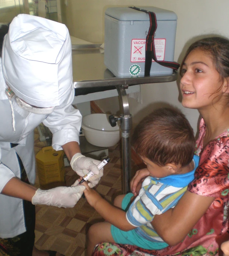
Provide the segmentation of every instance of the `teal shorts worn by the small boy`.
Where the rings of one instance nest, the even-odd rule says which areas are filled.
[[[130,199],[134,196],[132,193],[128,193],[122,201],[122,209],[127,211],[129,206],[131,205]],[[143,237],[139,236],[135,229],[130,231],[122,231],[121,229],[116,228],[115,226],[111,225],[111,235],[116,243],[121,244],[128,244],[128,245],[136,245],[143,249],[148,250],[159,250],[163,249],[168,246],[165,242],[152,242],[148,239],[144,239]]]

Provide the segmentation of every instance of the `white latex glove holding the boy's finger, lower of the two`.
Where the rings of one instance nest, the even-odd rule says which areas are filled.
[[[57,207],[72,208],[83,195],[85,187],[56,187],[49,190],[38,188],[32,198],[32,204],[46,204]]]

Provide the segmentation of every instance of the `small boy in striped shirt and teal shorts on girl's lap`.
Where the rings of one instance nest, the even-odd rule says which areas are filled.
[[[168,246],[154,231],[151,221],[154,215],[174,207],[194,179],[199,157],[193,158],[193,129],[179,110],[160,108],[138,124],[132,144],[150,173],[139,196],[135,199],[132,193],[117,196],[115,207],[83,183],[87,201],[108,221],[90,227],[88,256],[100,242],[132,244],[145,249]]]

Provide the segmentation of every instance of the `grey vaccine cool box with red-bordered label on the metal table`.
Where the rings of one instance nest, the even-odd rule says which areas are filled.
[[[139,8],[156,14],[157,30],[154,43],[157,60],[174,61],[176,14],[153,6]],[[104,64],[116,77],[144,75],[145,39],[149,28],[149,14],[128,7],[106,9]],[[172,73],[173,69],[152,62],[150,75]]]

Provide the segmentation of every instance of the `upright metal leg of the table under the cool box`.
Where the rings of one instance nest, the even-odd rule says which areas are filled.
[[[130,192],[130,174],[131,174],[131,137],[132,115],[129,113],[129,103],[126,90],[128,85],[115,86],[118,91],[118,101],[120,105],[120,128],[122,131],[122,192]]]

